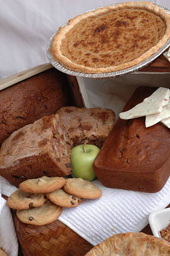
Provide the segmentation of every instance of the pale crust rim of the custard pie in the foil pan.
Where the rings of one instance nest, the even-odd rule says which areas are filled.
[[[147,52],[139,56],[137,59],[134,59],[127,63],[120,64],[118,66],[112,66],[112,67],[106,67],[106,68],[91,68],[91,67],[86,67],[80,64],[76,64],[72,62],[70,59],[68,59],[67,57],[63,56],[60,50],[61,41],[63,38],[65,38],[66,33],[71,28],[73,28],[75,24],[79,23],[84,18],[88,18],[90,16],[94,16],[99,13],[106,12],[107,10],[110,10],[110,9],[122,8],[122,7],[140,7],[140,8],[147,8],[147,9],[153,10],[154,13],[157,13],[165,20],[165,23],[167,26],[165,35],[155,46],[152,46]],[[167,14],[165,10],[158,8],[157,6],[153,5],[148,1],[147,2],[127,2],[127,3],[120,3],[113,6],[102,7],[94,11],[78,15],[75,18],[69,20],[69,25],[60,27],[58,30],[58,33],[56,34],[56,36],[54,36],[52,46],[51,46],[51,53],[53,55],[53,58],[56,61],[58,61],[61,65],[63,65],[63,67],[66,67],[67,69],[70,69],[76,72],[84,72],[84,73],[91,73],[91,74],[108,73],[108,72],[122,70],[128,67],[134,66],[136,64],[139,64],[141,61],[147,59],[152,54],[156,53],[165,44],[165,42],[169,37],[170,37],[170,15]]]

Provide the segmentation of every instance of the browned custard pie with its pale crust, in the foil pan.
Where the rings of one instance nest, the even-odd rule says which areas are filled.
[[[150,2],[105,6],[69,20],[53,38],[53,58],[67,69],[107,73],[157,52],[170,36],[170,15]]]

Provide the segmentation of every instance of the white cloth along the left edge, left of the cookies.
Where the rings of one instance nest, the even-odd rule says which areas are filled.
[[[10,196],[16,189],[16,187],[0,176],[0,248],[8,256],[18,255],[18,240],[10,208],[6,205],[6,200],[1,194]]]

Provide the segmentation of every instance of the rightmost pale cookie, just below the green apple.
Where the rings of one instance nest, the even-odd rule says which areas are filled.
[[[66,185],[63,186],[63,189],[76,197],[86,199],[101,197],[101,190],[96,185],[81,178],[66,179]]]

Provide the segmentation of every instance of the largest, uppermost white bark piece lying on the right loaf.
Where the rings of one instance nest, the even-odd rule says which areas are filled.
[[[143,102],[137,104],[134,108],[122,112],[119,117],[122,119],[138,118],[145,115],[152,115],[162,111],[162,108],[167,105],[170,97],[170,90],[164,87],[158,88]]]

